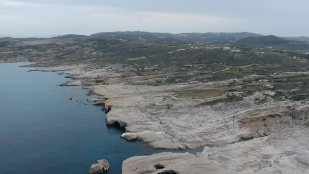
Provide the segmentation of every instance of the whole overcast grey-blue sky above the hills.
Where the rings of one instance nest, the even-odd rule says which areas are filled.
[[[308,0],[0,0],[0,37],[113,31],[309,36]]]

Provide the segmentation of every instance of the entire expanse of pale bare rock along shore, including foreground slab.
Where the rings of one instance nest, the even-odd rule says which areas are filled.
[[[163,80],[173,74],[120,78],[120,66],[92,71],[86,71],[85,66],[47,70],[70,70],[66,73],[82,79],[80,84],[90,85],[91,94],[99,97],[89,101],[112,106],[106,124],[126,128],[122,138],[140,140],[152,149],[205,147],[197,155],[132,157],[123,161],[122,173],[309,173],[309,105],[285,98],[275,100],[271,90],[250,95],[225,92],[208,98],[178,97],[188,91],[225,91],[229,84],[252,80],[256,75],[194,84],[131,85],[135,81]],[[268,84],[268,88],[272,86]],[[229,95],[241,100],[205,104],[223,101]],[[101,165],[92,168],[100,171]]]

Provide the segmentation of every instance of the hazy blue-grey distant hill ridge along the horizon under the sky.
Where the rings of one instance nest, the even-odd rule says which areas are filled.
[[[55,36],[55,35],[54,35]],[[226,42],[236,42],[236,43],[248,43],[248,44],[285,44],[288,42],[294,42],[298,44],[302,41],[309,43],[308,37],[276,37],[273,35],[263,36],[260,34],[240,32],[240,33],[151,33],[151,32],[101,32],[86,35],[75,35],[67,34],[55,36],[50,39],[78,39],[87,40],[91,38],[117,38],[121,40],[129,41],[147,41],[147,42],[197,42],[197,43],[226,43]],[[257,37],[257,38],[256,38]],[[14,41],[26,41],[26,40],[42,40],[48,38],[11,38],[3,37],[0,38],[0,42],[14,42]]]

